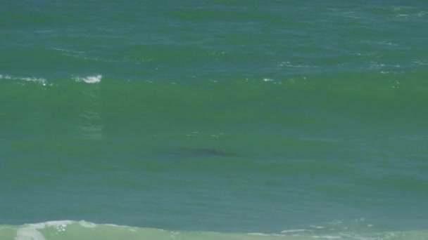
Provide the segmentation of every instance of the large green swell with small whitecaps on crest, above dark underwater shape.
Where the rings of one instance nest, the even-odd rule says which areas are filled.
[[[16,112],[39,119],[50,119],[52,111],[73,116],[67,118],[69,124],[96,139],[101,139],[106,122],[126,122],[136,129],[180,126],[188,138],[201,137],[193,133],[199,131],[195,126],[206,124],[222,126],[204,133],[212,138],[237,129],[234,126],[244,129],[253,123],[260,126],[260,131],[307,131],[313,127],[340,128],[350,133],[349,124],[354,124],[355,129],[375,127],[387,130],[385,133],[394,129],[395,133],[427,122],[426,76],[424,69],[405,74],[341,73],[292,79],[262,76],[174,82],[144,78],[136,81],[101,74],[31,81],[2,75],[0,95],[5,99],[5,109],[15,105]],[[42,105],[44,108],[40,108]]]

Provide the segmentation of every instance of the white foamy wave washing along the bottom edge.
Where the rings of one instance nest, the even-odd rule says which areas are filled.
[[[86,221],[49,221],[27,225],[0,225],[0,239],[15,240],[65,240],[65,239],[224,239],[224,240],[309,240],[309,239],[427,239],[428,231],[355,231],[340,229],[325,231],[323,227],[313,226],[310,229],[288,229],[277,234],[260,232],[228,233],[228,232],[181,232],[156,228],[130,227],[123,225],[96,224]]]

